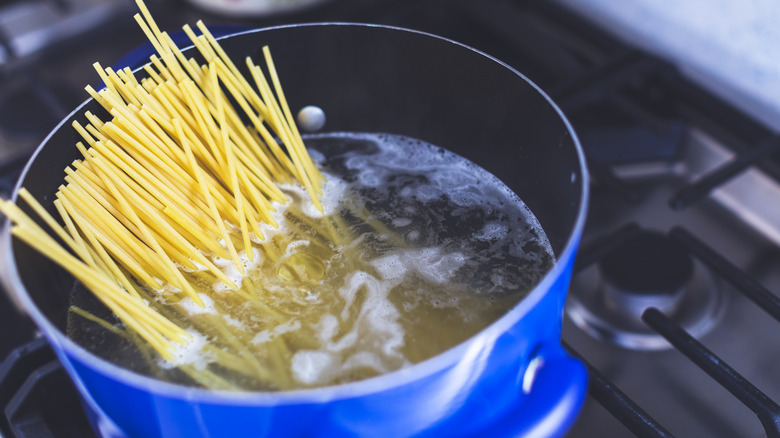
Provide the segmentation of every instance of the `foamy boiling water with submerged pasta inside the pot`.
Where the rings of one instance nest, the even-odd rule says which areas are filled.
[[[195,334],[174,363],[77,315],[69,334],[109,360],[181,383],[331,385],[457,345],[515,305],[553,263],[528,208],[463,158],[389,135],[329,134],[306,144],[328,178],[325,212],[301,188],[285,187],[292,202],[279,206],[279,228],[265,227],[264,239],[242,252],[247,275],[221,261],[243,294],[201,279],[204,308],[189,298],[153,300]],[[110,318],[88,293],[74,300]]]

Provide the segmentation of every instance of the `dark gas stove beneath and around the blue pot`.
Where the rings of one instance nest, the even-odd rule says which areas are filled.
[[[572,121],[593,176],[563,330],[588,364],[589,397],[569,436],[780,437],[780,139],[765,124],[548,1],[341,0],[240,20],[147,3],[165,28],[198,18],[413,28],[526,74]],[[71,24],[2,18],[29,8]],[[92,63],[113,65],[144,42],[132,10],[122,0],[0,3],[0,195],[95,85]],[[57,33],[30,36],[41,29]],[[0,312],[0,433],[93,435],[45,341],[10,302]]]

